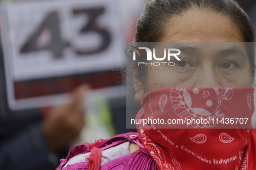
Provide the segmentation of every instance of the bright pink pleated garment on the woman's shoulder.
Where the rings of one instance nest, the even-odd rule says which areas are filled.
[[[131,135],[136,135],[138,138],[138,141],[141,142],[138,133],[130,132],[130,133],[125,133],[121,135],[116,135],[110,139],[103,140],[98,143],[97,148],[100,148],[100,150],[103,151],[107,148],[119,145],[126,141],[130,141],[134,143],[134,141],[130,139]],[[78,154],[84,154],[87,152],[91,152],[91,150],[87,145],[82,144],[82,145],[75,146],[68,152],[68,156],[66,159],[60,160],[61,164],[56,170],[61,170],[62,167],[65,165],[65,163],[71,157],[74,157],[75,155],[78,155]],[[82,162],[82,163],[68,165],[62,170],[87,170],[87,169],[88,169],[88,164],[86,162]],[[115,160],[107,162],[106,164],[100,167],[100,170],[157,170],[157,168],[149,152],[146,149],[141,148],[133,152],[132,154],[127,154],[123,157],[118,157]]]

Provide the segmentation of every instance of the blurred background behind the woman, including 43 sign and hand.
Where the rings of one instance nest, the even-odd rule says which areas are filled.
[[[1,170],[54,170],[75,145],[136,131],[125,48],[146,2],[1,1]],[[238,2],[256,25],[256,1]]]

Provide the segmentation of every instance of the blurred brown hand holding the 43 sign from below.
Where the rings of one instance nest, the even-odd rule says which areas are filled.
[[[68,147],[84,126],[84,92],[88,85],[82,85],[73,92],[73,101],[53,108],[42,120],[41,127],[46,147],[55,152]]]

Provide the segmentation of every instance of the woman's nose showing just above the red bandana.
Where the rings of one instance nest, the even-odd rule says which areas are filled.
[[[217,79],[217,72],[210,64],[203,64],[198,68],[195,79],[194,88],[212,88],[221,87]]]

